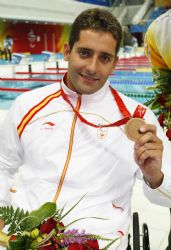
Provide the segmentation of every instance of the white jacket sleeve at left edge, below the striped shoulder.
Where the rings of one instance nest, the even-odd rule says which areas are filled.
[[[10,188],[23,162],[23,149],[17,133],[19,108],[14,102],[0,124],[0,205],[9,205]]]

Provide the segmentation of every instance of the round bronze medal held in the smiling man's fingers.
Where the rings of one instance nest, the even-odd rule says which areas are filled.
[[[142,118],[132,118],[125,125],[125,133],[128,139],[132,141],[138,140],[142,134],[140,132],[140,127],[145,125],[145,121]]]

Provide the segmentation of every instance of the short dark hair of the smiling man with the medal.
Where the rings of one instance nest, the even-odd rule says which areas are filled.
[[[69,46],[71,49],[74,43],[79,40],[80,32],[87,29],[110,32],[116,40],[116,54],[118,53],[122,40],[122,28],[111,12],[106,9],[92,8],[78,15],[70,31]]]

